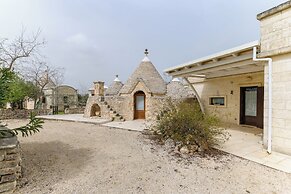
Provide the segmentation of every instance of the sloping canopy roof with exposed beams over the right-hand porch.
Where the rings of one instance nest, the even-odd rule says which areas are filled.
[[[263,71],[264,67],[252,60],[253,47],[259,47],[254,41],[213,55],[196,59],[165,72],[173,77],[216,78]]]

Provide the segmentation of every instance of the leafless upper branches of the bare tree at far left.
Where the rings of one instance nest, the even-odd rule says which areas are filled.
[[[39,57],[39,48],[45,44],[45,41],[39,40],[39,36],[40,30],[31,36],[26,36],[23,29],[13,41],[0,39],[0,65],[13,70],[17,62]]]

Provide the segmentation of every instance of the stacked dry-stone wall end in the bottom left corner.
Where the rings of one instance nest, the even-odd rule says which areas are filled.
[[[21,177],[17,137],[0,139],[0,193],[12,193]]]

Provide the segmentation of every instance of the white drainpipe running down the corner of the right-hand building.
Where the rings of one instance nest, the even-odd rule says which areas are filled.
[[[257,58],[257,47],[253,48],[253,61],[267,61],[268,62],[268,147],[267,152],[272,152],[272,58]]]

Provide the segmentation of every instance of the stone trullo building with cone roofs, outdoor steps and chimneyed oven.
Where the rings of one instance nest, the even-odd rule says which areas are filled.
[[[145,58],[124,84],[116,77],[105,92],[104,82],[94,82],[84,117],[155,120],[166,99],[195,97],[177,79],[167,84],[147,57],[147,51],[145,53]]]

